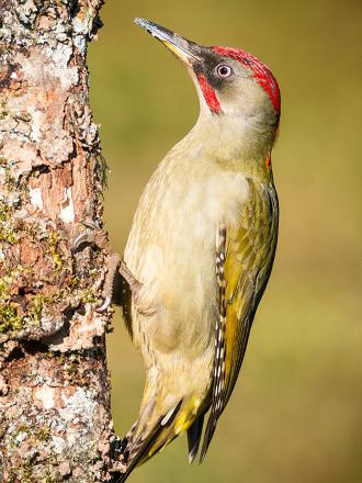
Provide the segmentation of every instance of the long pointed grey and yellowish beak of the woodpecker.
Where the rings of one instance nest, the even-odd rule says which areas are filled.
[[[135,19],[135,23],[166,45],[186,66],[192,67],[194,61],[201,61],[201,58],[196,55],[200,47],[193,42],[146,19]]]

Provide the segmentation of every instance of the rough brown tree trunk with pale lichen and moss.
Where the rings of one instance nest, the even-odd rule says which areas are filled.
[[[105,167],[88,100],[102,0],[0,0],[0,481],[109,482]]]

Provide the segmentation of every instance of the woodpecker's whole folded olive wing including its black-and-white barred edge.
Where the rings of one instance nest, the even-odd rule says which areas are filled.
[[[248,181],[250,195],[240,207],[238,224],[218,227],[216,278],[219,318],[215,332],[211,413],[201,461],[234,390],[275,254],[279,215],[275,189],[272,183],[261,186]]]

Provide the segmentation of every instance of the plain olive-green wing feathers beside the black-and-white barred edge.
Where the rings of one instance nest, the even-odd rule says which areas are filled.
[[[251,202],[240,226],[228,231],[225,262],[227,322],[226,405],[244,359],[251,324],[272,269],[278,237],[278,198],[272,186],[250,183]]]

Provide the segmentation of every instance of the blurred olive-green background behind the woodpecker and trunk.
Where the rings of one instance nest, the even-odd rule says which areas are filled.
[[[133,24],[145,16],[199,43],[239,46],[282,91],[273,168],[281,204],[274,270],[241,378],[203,465],[185,437],[129,483],[362,481],[362,2],[106,0],[89,52],[91,103],[111,168],[105,220],[122,252],[157,164],[193,125],[191,80]],[[108,350],[116,429],[143,390],[120,311]]]

